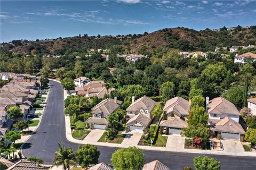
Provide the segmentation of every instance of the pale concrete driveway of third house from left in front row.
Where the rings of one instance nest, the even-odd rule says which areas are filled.
[[[184,143],[185,143],[185,138],[181,137],[180,135],[169,134],[166,142],[166,148],[183,150]]]

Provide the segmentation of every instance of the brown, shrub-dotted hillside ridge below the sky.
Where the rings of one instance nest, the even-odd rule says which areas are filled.
[[[110,48],[119,45],[126,53],[151,53],[154,50],[172,48],[192,51],[213,50],[216,46],[249,45],[256,42],[256,26],[248,29],[236,27],[233,31],[221,28],[219,32],[205,29],[196,31],[188,28],[165,28],[143,35],[57,38],[53,40],[27,41],[14,40],[4,43],[1,48],[10,52],[29,54],[32,49],[37,54],[64,54],[66,52],[86,52],[90,48]]]

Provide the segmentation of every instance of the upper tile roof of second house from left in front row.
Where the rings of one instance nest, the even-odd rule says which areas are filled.
[[[140,113],[140,109],[146,110],[148,109],[149,112],[153,111],[156,102],[150,99],[147,96],[143,96],[134,101],[129,107],[126,108],[126,111],[132,111],[135,113]]]

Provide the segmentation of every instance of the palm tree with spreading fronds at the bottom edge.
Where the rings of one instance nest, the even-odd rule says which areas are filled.
[[[76,152],[73,152],[72,148],[65,148],[64,144],[58,143],[59,150],[55,152],[55,156],[52,163],[59,166],[63,165],[63,169],[70,169],[70,166],[76,167]]]

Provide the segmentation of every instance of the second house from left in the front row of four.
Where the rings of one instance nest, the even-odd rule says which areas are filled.
[[[126,108],[129,120],[126,125],[129,130],[132,131],[143,131],[151,123],[153,116],[151,112],[153,111],[156,102],[147,96],[143,96],[134,101],[134,96],[132,97],[132,104]]]

